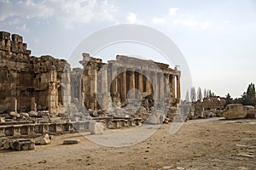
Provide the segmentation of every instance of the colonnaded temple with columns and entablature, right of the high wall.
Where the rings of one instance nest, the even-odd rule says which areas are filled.
[[[109,110],[112,101],[120,107],[127,100],[136,101],[148,95],[155,102],[165,100],[169,106],[180,103],[180,71],[169,65],[124,55],[102,63],[102,59],[90,54],[83,54],[80,64],[84,65],[83,75],[79,76],[81,94],[74,93],[74,97],[82,99],[87,109]]]

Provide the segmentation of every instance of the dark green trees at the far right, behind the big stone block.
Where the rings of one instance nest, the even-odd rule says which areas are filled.
[[[241,95],[241,98],[232,99],[230,94],[226,95],[226,105],[242,104],[242,105],[256,105],[256,91],[255,85],[251,82],[247,87],[247,92]]]

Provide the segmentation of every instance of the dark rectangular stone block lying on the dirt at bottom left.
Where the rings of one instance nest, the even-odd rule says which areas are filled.
[[[15,139],[10,140],[12,150],[34,150],[35,141],[32,139]]]

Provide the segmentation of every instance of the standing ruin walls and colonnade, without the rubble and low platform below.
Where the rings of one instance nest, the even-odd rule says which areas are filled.
[[[180,71],[169,65],[122,55],[103,63],[83,54],[84,68],[71,71],[65,59],[31,56],[19,35],[1,31],[0,42],[0,113],[120,112],[116,108],[138,99],[150,112],[154,102],[180,103]]]

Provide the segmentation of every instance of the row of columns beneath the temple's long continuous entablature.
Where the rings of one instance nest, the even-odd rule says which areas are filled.
[[[181,97],[180,77],[177,75],[164,74],[156,71],[142,72],[125,68],[119,68],[119,70],[113,68],[111,75],[112,82],[107,82],[109,86],[111,84],[109,90],[111,93],[118,92],[121,102],[127,99],[127,92],[133,88],[137,88],[141,93],[154,93],[154,99],[160,99],[166,93],[171,93],[172,97],[176,99],[180,99]],[[102,79],[102,81],[106,83],[106,79]],[[130,93],[129,97],[135,99],[135,93]]]

